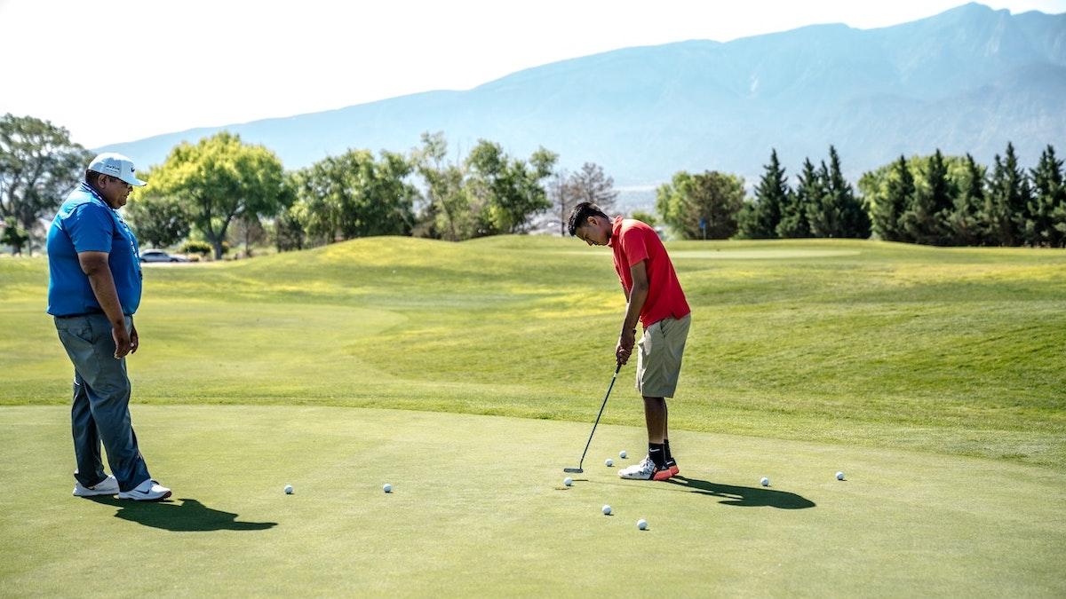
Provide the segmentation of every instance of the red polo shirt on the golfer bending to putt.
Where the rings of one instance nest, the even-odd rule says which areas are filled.
[[[681,284],[677,280],[674,264],[666,255],[663,242],[656,230],[632,218],[617,216],[608,245],[614,250],[614,270],[618,272],[626,296],[633,289],[629,269],[641,260],[648,273],[648,298],[641,308],[641,323],[647,328],[666,319],[684,318],[692,310],[684,300]]]

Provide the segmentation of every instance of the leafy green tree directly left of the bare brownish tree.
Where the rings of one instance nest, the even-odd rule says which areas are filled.
[[[529,161],[513,159],[499,144],[479,140],[466,160],[475,234],[526,232],[530,218],[551,206],[540,181],[551,176],[558,159],[544,148]]]

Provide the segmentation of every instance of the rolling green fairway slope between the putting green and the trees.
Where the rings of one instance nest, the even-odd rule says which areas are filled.
[[[668,244],[693,306],[672,425],[1066,467],[1066,252]],[[44,260],[0,260],[0,404],[64,403]],[[136,401],[591,420],[623,295],[604,248],[376,238],[145,269]],[[639,423],[632,367],[604,418]]]

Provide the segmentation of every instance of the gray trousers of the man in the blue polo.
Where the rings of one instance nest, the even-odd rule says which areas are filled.
[[[132,324],[126,317],[126,327]],[[55,329],[75,371],[70,424],[78,468],[74,475],[86,487],[107,477],[100,462],[103,441],[118,488],[131,490],[151,476],[130,421],[130,379],[126,358],[115,359],[111,323],[103,314],[56,318]]]

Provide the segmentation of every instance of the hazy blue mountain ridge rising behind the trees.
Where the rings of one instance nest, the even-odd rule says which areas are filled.
[[[1013,141],[1024,163],[1066,142],[1066,14],[967,4],[899,26],[820,25],[729,43],[625,48],[521,70],[465,92],[200,128],[109,146],[158,163],[221,129],[262,143],[286,167],[349,147],[405,151],[446,132],[458,155],[479,137],[518,155],[602,164],[619,184],[679,169],[758,176],[776,147],[794,173],[836,144],[849,176],[900,153],[971,151]]]

